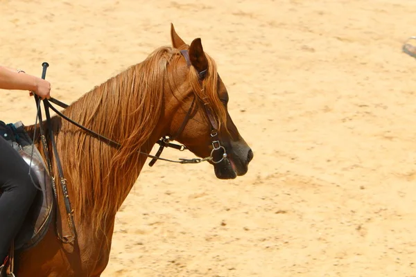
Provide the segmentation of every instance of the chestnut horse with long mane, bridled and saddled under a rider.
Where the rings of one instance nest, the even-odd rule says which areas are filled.
[[[214,146],[220,157],[207,160],[219,179],[234,179],[248,171],[253,153],[228,114],[227,89],[214,60],[204,52],[199,38],[189,46],[173,25],[171,39],[173,47],[157,48],[146,60],[85,93],[63,112],[120,143],[120,148],[59,116],[51,118],[74,209],[76,240],[65,244],[56,237],[57,226],[69,233],[65,217],[60,216],[65,215],[64,205],[58,201],[57,225],[53,222],[41,242],[19,254],[16,276],[101,276],[110,256],[116,212],[139,177],[146,154],[163,136],[175,135],[175,141],[198,157],[213,157]],[[218,134],[212,134],[213,125]],[[27,126],[26,131],[33,136],[34,128]],[[214,136],[218,141],[213,143]],[[42,152],[39,139],[35,145]],[[54,161],[53,172],[57,175]]]

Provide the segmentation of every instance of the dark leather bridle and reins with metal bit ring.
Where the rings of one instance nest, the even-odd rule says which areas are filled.
[[[185,60],[187,61],[187,66],[190,67],[191,66],[191,61],[189,60],[189,52],[188,50],[181,50],[180,53],[182,54],[182,56],[185,58]],[[46,69],[48,68],[49,64],[47,62],[44,62],[42,64],[43,66],[43,71],[42,71],[42,79],[45,78],[46,76]],[[205,78],[205,76],[207,75],[207,69],[198,72],[198,78],[199,78],[199,82],[201,84],[202,87],[202,82]],[[46,134],[44,133],[44,127],[42,124],[42,112],[40,111],[40,101],[41,99],[35,96],[35,101],[36,101],[36,106],[37,106],[37,117],[36,120],[39,120],[39,124],[40,124],[40,138],[41,138],[41,142],[42,142],[42,148],[44,150],[44,154],[46,157],[46,164],[48,166],[49,169],[49,175],[51,177],[51,183],[53,186],[53,192],[54,192],[54,196],[55,196],[55,200],[58,201],[58,194],[57,194],[57,190],[56,190],[56,186],[55,186],[55,177],[53,177],[53,170],[52,170],[52,163],[50,160],[50,149],[46,143]],[[49,112],[49,109],[52,109],[53,111],[55,111],[56,114],[58,114],[58,116],[61,116],[62,118],[64,118],[65,120],[69,121],[69,123],[72,123],[73,125],[76,125],[77,127],[79,127],[80,129],[83,129],[85,132],[87,132],[89,135],[95,137],[96,139],[99,139],[101,141],[103,141],[104,143],[107,143],[108,145],[114,147],[114,148],[121,148],[121,144],[117,143],[116,141],[112,141],[111,139],[106,138],[105,136],[98,134],[94,131],[92,131],[91,129],[88,129],[87,127],[80,125],[79,123],[76,123],[75,121],[71,120],[71,118],[68,118],[67,116],[65,116],[64,114],[62,114],[60,111],[58,111],[58,109],[56,109],[55,107],[53,107],[53,105],[51,105],[51,102],[53,102],[55,105],[58,105],[64,109],[66,109],[67,107],[69,107],[69,105],[56,100],[55,98],[49,98],[49,99],[44,99],[44,111],[45,111],[45,116],[46,116],[46,125],[49,129],[49,134],[47,134],[49,141],[51,142],[51,146],[52,146],[52,151],[53,151],[53,157],[55,157],[55,162],[56,162],[56,166],[58,168],[58,175],[60,177],[60,185],[62,188],[62,194],[63,194],[63,198],[64,198],[64,205],[65,205],[65,211],[67,213],[67,222],[68,222],[68,226],[69,229],[71,230],[71,235],[60,235],[59,231],[58,231],[58,224],[55,224],[55,228],[56,228],[56,232],[58,235],[58,238],[64,242],[64,243],[71,243],[75,240],[76,238],[76,229],[75,229],[75,224],[73,223],[73,210],[71,208],[71,202],[69,200],[69,195],[68,195],[68,190],[67,190],[67,179],[64,178],[64,173],[63,173],[63,169],[62,169],[62,164],[60,162],[60,158],[58,155],[58,150],[56,148],[56,143],[55,143],[55,139],[53,137],[53,130],[52,130],[52,125],[51,125],[51,115]],[[187,150],[187,147],[185,145],[177,145],[175,143],[171,143],[171,141],[174,141],[175,139],[177,139],[178,136],[180,136],[180,134],[182,134],[182,132],[184,131],[184,128],[186,127],[189,119],[191,118],[191,114],[193,111],[193,108],[195,106],[196,103],[196,96],[194,96],[192,102],[191,102],[191,107],[189,107],[189,110],[182,122],[182,124],[180,125],[179,129],[177,129],[177,132],[173,135],[173,136],[164,136],[161,139],[159,139],[159,141],[157,141],[156,143],[159,144],[159,150],[157,150],[157,153],[155,154],[155,156],[148,154],[146,152],[141,152],[139,151],[140,154],[144,154],[147,157],[152,158],[152,160],[149,163],[149,166],[153,166],[155,164],[155,162],[157,160],[162,160],[162,161],[169,161],[172,163],[200,163],[202,161],[211,161],[211,163],[220,163],[221,161],[224,161],[225,159],[227,159],[227,152],[224,148],[223,145],[220,144],[219,141],[219,137],[218,137],[218,123],[214,118],[214,115],[212,113],[212,110],[210,107],[208,107],[208,105],[204,105],[205,108],[205,114],[207,115],[207,118],[209,120],[209,123],[211,125],[211,145],[212,145],[212,150],[211,150],[211,154],[209,155],[209,157],[205,157],[203,159],[200,158],[194,158],[194,159],[178,159],[178,160],[171,160],[171,159],[164,159],[162,157],[160,157],[160,154],[162,154],[162,151],[164,150],[164,148],[174,148],[180,151],[184,151]],[[33,141],[35,141],[35,136],[36,136],[36,123],[35,123],[35,130],[33,133]],[[222,156],[218,161],[214,160],[214,153],[217,151],[222,151]],[[57,217],[58,220],[58,217]]]

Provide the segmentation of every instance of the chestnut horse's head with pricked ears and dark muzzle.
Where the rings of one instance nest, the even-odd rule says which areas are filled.
[[[198,157],[211,157],[216,177],[245,175],[253,152],[229,116],[227,88],[207,55],[201,40],[187,45],[171,26],[173,48],[181,51],[169,68],[173,96],[166,105],[173,110],[169,136]]]

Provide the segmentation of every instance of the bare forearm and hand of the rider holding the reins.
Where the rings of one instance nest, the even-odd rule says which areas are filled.
[[[51,84],[41,78],[0,66],[0,89],[33,91],[40,98],[49,98]]]

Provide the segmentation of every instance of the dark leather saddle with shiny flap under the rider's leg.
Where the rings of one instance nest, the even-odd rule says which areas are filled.
[[[51,177],[46,169],[47,167],[39,150],[37,150],[30,136],[26,133],[23,123],[19,121],[15,124],[10,123],[6,125],[3,121],[0,121],[0,136],[6,139],[21,155],[22,159],[31,166],[31,174],[36,176],[39,181],[39,184],[37,184],[37,195],[26,215],[24,224],[12,242],[10,255],[3,265],[0,264],[0,277],[2,277],[14,276],[12,275],[12,257],[15,251],[23,251],[34,247],[44,238],[53,217],[54,197]],[[1,193],[0,190],[0,197]],[[5,274],[6,269],[8,269],[9,275]]]

